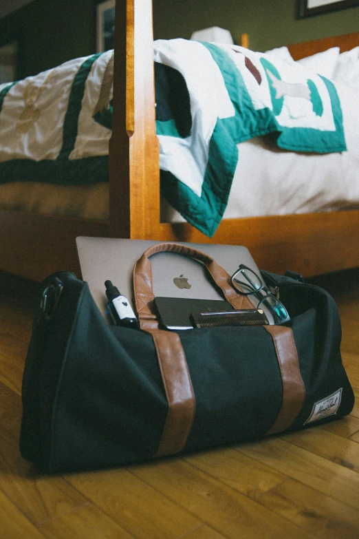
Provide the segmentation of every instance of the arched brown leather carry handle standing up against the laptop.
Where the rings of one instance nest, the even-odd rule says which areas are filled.
[[[221,289],[224,298],[232,307],[235,309],[253,308],[246,296],[242,296],[236,292],[235,288],[230,284],[230,275],[212,257],[186,245],[160,243],[146,249],[133,268],[134,299],[141,329],[153,330],[158,328],[157,317],[155,310],[153,310],[153,299],[155,299],[155,295],[153,294],[152,284],[152,264],[149,257],[156,253],[164,252],[177,253],[202,262],[206,266],[213,282]]]

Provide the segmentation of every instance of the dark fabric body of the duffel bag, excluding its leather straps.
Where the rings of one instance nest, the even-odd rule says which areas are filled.
[[[67,273],[62,280],[54,315],[45,320],[38,309],[34,318],[23,377],[21,454],[45,472],[153,457],[168,404],[151,335],[108,326],[87,285]],[[329,295],[309,288],[292,283],[281,293],[305,385],[303,408],[290,429],[330,421],[353,407],[336,306]],[[281,410],[283,383],[265,328],[184,330],[179,337],[195,394],[184,451],[267,433]],[[339,390],[335,414],[323,412],[325,399]]]

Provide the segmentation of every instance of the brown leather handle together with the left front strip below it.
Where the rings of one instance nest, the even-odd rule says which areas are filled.
[[[232,288],[230,275],[212,257],[197,251],[197,249],[175,243],[156,244],[147,249],[140,260],[136,262],[133,269],[133,289],[138,321],[140,328],[152,335],[168,402],[166,422],[155,456],[175,454],[181,451],[186,444],[195,416],[195,394],[181,341],[177,333],[159,329],[153,310],[155,296],[152,284],[152,264],[149,257],[166,251],[202,262],[214,284],[221,289],[224,297],[233,307],[237,309],[242,308],[242,306],[252,308],[248,299]]]

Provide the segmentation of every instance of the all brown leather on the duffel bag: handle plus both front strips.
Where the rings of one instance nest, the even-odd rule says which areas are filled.
[[[155,253],[173,252],[202,262],[213,282],[235,308],[252,308],[249,300],[239,295],[230,284],[230,275],[212,257],[181,244],[162,243],[147,249],[133,269],[135,306],[140,328],[152,335],[160,364],[162,381],[168,402],[164,431],[154,456],[175,454],[186,444],[195,416],[195,394],[184,350],[177,333],[159,329],[153,312],[152,265],[149,257]],[[283,381],[283,403],[279,415],[266,434],[286,430],[298,416],[305,401],[305,388],[299,370],[298,355],[292,330],[285,326],[264,326],[272,336]]]

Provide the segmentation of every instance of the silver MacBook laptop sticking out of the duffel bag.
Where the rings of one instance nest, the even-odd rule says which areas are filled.
[[[76,238],[83,280],[89,284],[94,301],[104,316],[107,310],[105,281],[109,279],[134,307],[133,266],[146,249],[158,243],[163,242],[85,236]],[[246,247],[177,243],[191,246],[210,255],[230,275],[235,273],[239,264],[245,264],[259,273]],[[224,299],[208,279],[206,268],[201,262],[176,253],[157,253],[151,256],[150,260],[155,296]],[[253,303],[256,304],[255,299]],[[266,314],[268,316],[268,313]],[[268,317],[272,318],[270,315]]]

